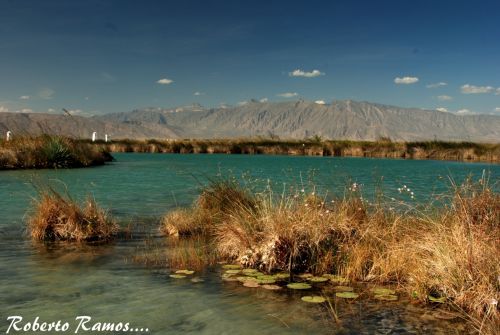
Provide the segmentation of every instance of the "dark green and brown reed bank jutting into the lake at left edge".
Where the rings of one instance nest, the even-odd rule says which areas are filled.
[[[87,167],[103,165],[112,159],[105,149],[61,136],[0,141],[0,170]]]

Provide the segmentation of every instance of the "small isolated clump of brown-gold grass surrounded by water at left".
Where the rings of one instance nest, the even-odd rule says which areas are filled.
[[[49,189],[41,191],[28,217],[28,232],[38,241],[106,241],[118,225],[88,197],[80,207],[69,197]]]

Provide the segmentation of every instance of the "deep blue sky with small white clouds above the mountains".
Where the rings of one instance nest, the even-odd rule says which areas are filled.
[[[0,112],[250,99],[500,115],[500,1],[0,0]]]

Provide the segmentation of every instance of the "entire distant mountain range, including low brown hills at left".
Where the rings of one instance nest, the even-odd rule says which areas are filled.
[[[191,105],[145,108],[90,118],[53,114],[0,113],[0,131],[55,133],[90,137],[93,131],[112,138],[228,138],[277,136],[301,139],[448,140],[499,142],[500,116],[401,108],[368,102],[309,101],[261,103],[206,109]]]

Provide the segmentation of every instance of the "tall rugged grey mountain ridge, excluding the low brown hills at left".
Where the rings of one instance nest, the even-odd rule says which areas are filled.
[[[251,102],[244,106],[197,111],[145,109],[108,114],[108,121],[147,120],[175,129],[186,138],[245,137],[270,134],[281,138],[320,135],[331,139],[470,140],[498,142],[500,117],[460,116],[367,102],[335,101],[331,105],[298,101]]]

